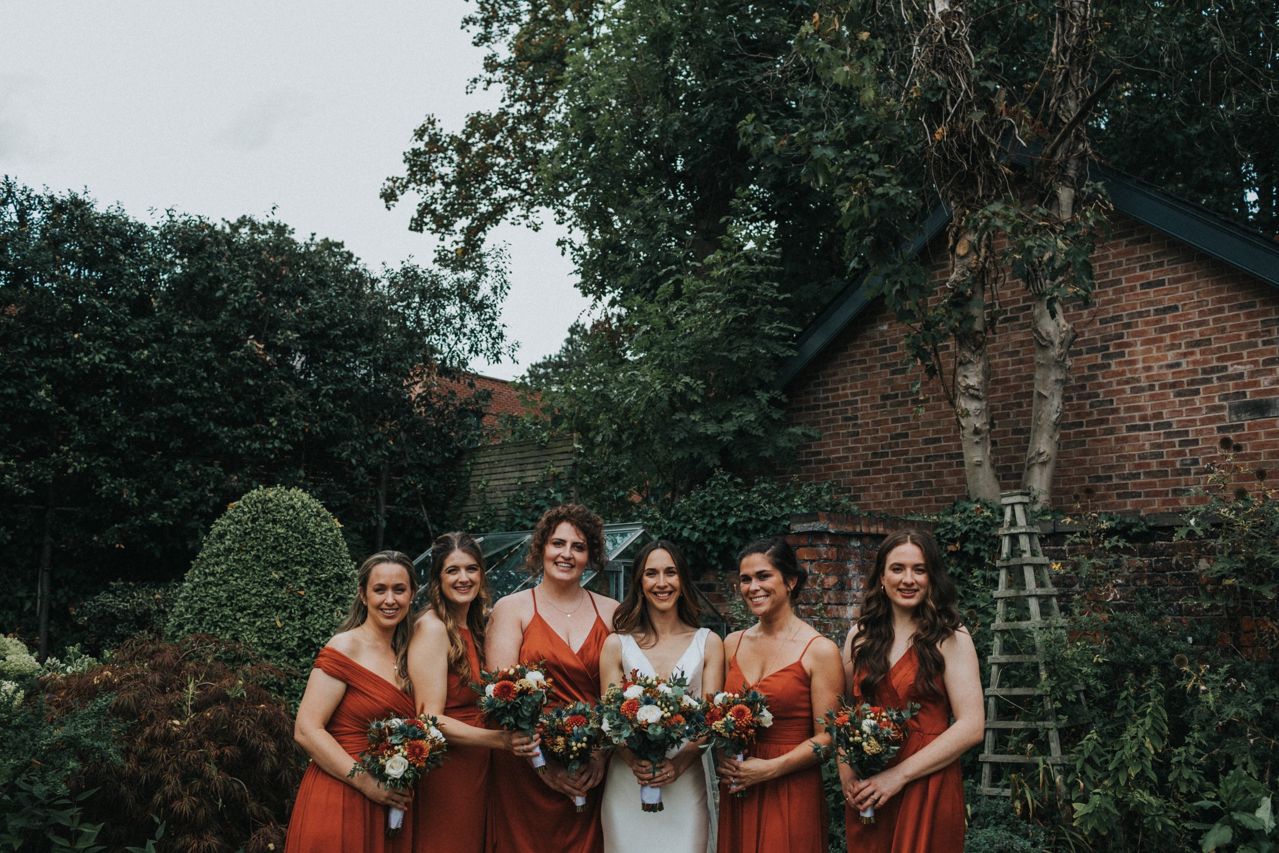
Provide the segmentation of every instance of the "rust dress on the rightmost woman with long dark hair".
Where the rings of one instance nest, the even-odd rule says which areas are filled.
[[[920,710],[906,723],[902,751],[889,763],[894,766],[938,739],[950,725],[950,700],[945,685],[940,697],[925,698],[914,684],[920,660],[911,646],[889,670],[875,696],[862,697],[857,680],[853,698],[885,707],[902,708],[917,702]],[[875,822],[862,825],[857,810],[844,807],[848,821],[849,853],[963,853],[964,806],[959,760],[936,772],[906,785],[902,792],[875,807]]]

